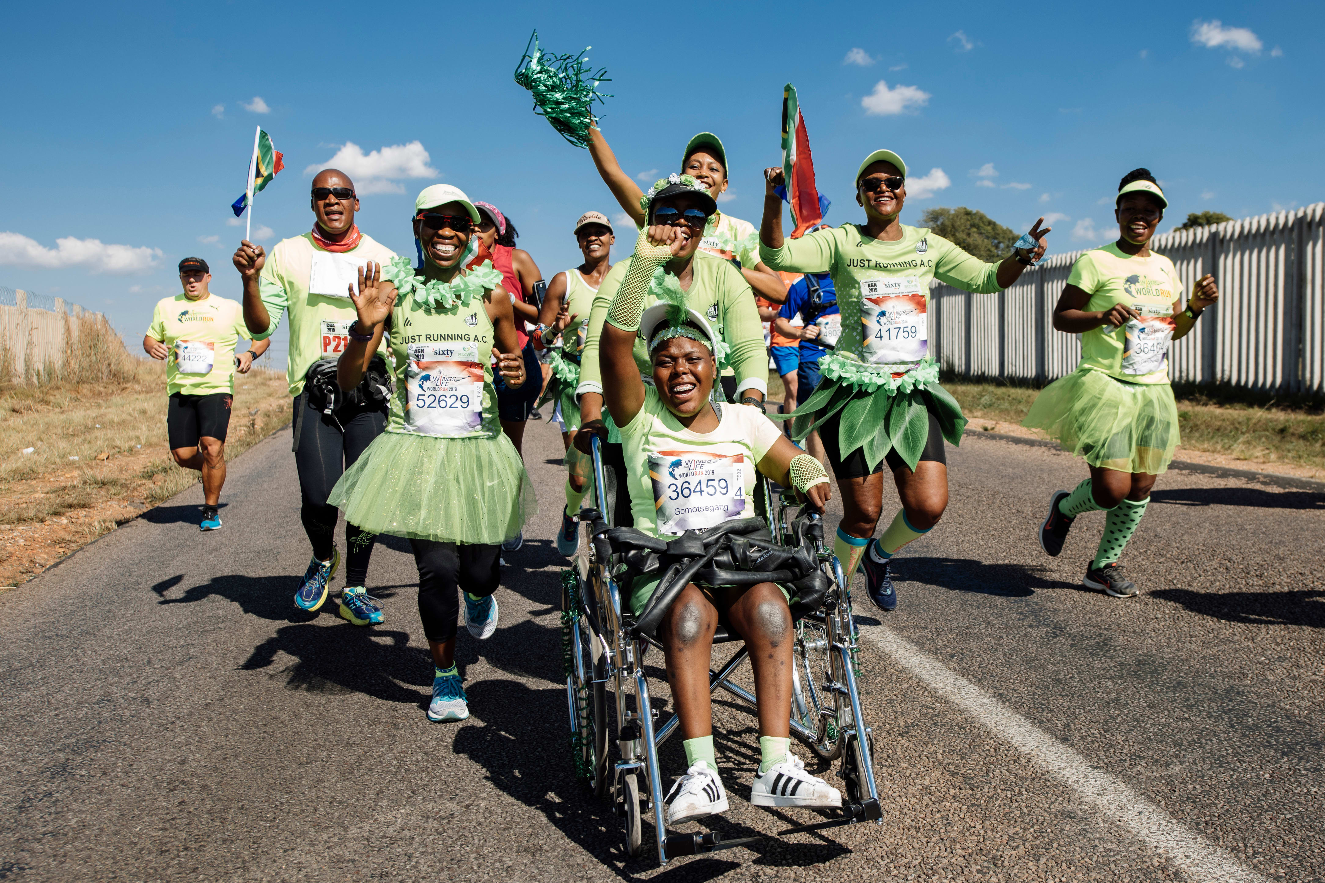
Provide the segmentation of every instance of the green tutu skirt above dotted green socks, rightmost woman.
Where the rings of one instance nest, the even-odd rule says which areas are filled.
[[[1120,473],[1163,473],[1179,442],[1173,387],[1125,383],[1089,368],[1041,389],[1022,425],[1092,466]]]

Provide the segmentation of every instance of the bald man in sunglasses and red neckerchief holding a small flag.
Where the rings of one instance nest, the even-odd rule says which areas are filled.
[[[367,262],[388,265],[395,253],[360,233],[354,222],[359,197],[354,181],[334,168],[318,172],[310,195],[314,224],[301,236],[281,240],[270,257],[249,241],[235,252],[244,279],[244,323],[254,340],[272,336],[289,314],[288,379],[294,398],[294,463],[299,471],[299,518],[313,544],[313,560],[294,602],[317,610],[327,600],[341,564],[335,547],[337,508],[327,506],[331,487],[378,437],[387,421],[387,367],[371,368],[350,393],[335,384],[335,364],[350,343],[356,312],[350,285]],[[386,353],[386,340],[379,353]],[[375,363],[376,364],[376,363]],[[342,617],[354,625],[382,622],[380,606],[364,582],[374,535],[352,524],[344,530],[347,572],[341,596]]]

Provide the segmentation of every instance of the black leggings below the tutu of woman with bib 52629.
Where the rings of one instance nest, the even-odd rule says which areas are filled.
[[[486,598],[501,581],[501,545],[409,540],[419,565],[419,618],[429,641],[456,637],[460,590]]]

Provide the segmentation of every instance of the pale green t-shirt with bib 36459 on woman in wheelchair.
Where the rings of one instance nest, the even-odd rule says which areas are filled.
[[[722,404],[712,433],[681,425],[653,387],[620,428],[636,530],[653,536],[754,518],[755,467],[782,430],[751,405]]]

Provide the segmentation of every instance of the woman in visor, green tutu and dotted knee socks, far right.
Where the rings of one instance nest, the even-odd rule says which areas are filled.
[[[1191,331],[1219,289],[1207,273],[1179,308],[1182,282],[1173,261],[1150,250],[1169,201],[1149,169],[1128,172],[1116,207],[1118,241],[1077,258],[1053,307],[1053,327],[1081,335],[1081,363],[1040,391],[1022,425],[1043,429],[1090,467],[1076,490],[1049,498],[1040,545],[1057,556],[1077,515],[1108,510],[1083,582],[1129,598],[1138,589],[1118,556],[1178,446],[1169,346]]]

